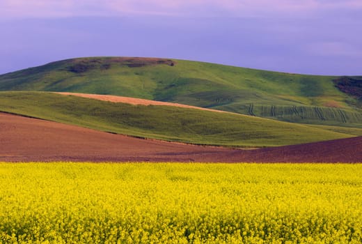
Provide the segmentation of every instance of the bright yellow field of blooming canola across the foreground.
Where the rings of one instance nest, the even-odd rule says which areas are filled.
[[[361,243],[362,165],[0,163],[0,243]]]

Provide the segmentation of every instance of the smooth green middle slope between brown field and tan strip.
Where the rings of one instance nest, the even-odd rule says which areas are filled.
[[[278,146],[353,136],[239,114],[134,106],[44,92],[1,92],[0,111],[125,135],[195,144]]]

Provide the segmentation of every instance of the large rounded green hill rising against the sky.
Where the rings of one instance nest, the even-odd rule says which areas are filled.
[[[112,94],[361,128],[360,102],[336,89],[333,79],[193,61],[87,58],[0,75],[0,90]]]

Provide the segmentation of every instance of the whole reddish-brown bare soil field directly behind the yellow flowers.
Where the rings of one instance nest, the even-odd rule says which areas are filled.
[[[362,162],[362,137],[242,150],[138,139],[0,113],[0,162]]]

